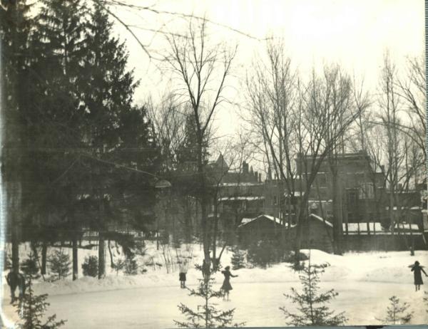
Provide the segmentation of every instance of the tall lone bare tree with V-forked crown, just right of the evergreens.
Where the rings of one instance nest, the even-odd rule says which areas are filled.
[[[208,182],[206,179],[206,137],[213,124],[216,110],[225,101],[223,96],[226,79],[236,49],[228,51],[221,45],[210,46],[206,31],[207,21],[190,21],[188,32],[183,36],[167,36],[170,51],[165,62],[178,78],[179,98],[183,98],[192,110],[196,128],[196,155],[198,172],[198,198],[201,209],[201,228],[205,263],[210,266],[210,230],[208,227]],[[209,276],[206,276],[208,278]]]

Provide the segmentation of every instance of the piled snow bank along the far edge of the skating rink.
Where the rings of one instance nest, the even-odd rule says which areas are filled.
[[[189,261],[187,284],[195,286],[198,279],[202,278],[200,271],[195,269],[195,265],[201,265],[203,261],[203,249],[199,244],[182,245],[180,249],[168,247],[168,250],[161,247],[156,249],[156,243],[148,242],[143,256],[137,256],[140,270],[146,273],[136,276],[126,276],[123,273],[116,273],[109,266],[110,257],[106,255],[106,278],[81,276],[76,281],[71,281],[71,276],[61,281],[35,282],[36,293],[49,293],[49,295],[63,295],[71,293],[84,293],[91,291],[107,291],[116,289],[126,289],[134,287],[168,287],[178,286],[178,263],[184,259]],[[28,249],[26,250],[28,251]],[[68,251],[67,251],[68,252]],[[71,249],[69,250],[71,253]],[[418,260],[422,265],[428,266],[428,251],[417,251],[416,256],[409,256],[407,251],[397,252],[365,252],[347,253],[344,256],[327,254],[315,249],[304,249],[302,254],[310,255],[312,264],[328,263],[325,273],[320,277],[325,282],[385,282],[385,283],[413,283],[413,275],[409,265]],[[81,263],[86,256],[97,255],[98,251],[91,249],[79,249],[79,273],[81,275]],[[113,261],[118,257],[123,257],[116,246],[112,246]],[[220,249],[217,255],[220,254]],[[230,265],[232,251],[225,249],[222,254],[222,266]],[[170,265],[165,266],[165,256],[169,257]],[[305,261],[307,263],[307,261]],[[154,265],[153,265],[154,264]],[[299,273],[292,270],[290,263],[279,263],[269,268],[241,268],[232,271],[238,275],[233,278],[235,283],[287,283],[299,281]],[[168,268],[167,268],[168,267]],[[215,282],[223,282],[223,274],[213,275]]]

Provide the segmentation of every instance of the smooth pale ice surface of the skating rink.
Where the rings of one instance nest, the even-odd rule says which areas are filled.
[[[247,326],[286,325],[279,306],[293,305],[282,296],[291,286],[300,283],[233,283],[232,301],[219,300],[220,307],[236,308],[235,321],[245,321]],[[218,286],[218,287],[217,287]],[[220,284],[216,283],[215,288]],[[345,310],[348,325],[379,323],[389,303],[396,295],[407,301],[415,311],[412,324],[428,323],[423,304],[423,291],[415,293],[414,286],[402,283],[347,282],[322,283],[322,290],[335,288],[340,293],[332,308]],[[412,299],[410,299],[412,298]],[[7,299],[3,300],[7,303]],[[58,319],[67,319],[63,328],[173,328],[173,319],[183,320],[177,305],[185,303],[194,307],[200,298],[190,297],[187,291],[172,287],[131,288],[116,291],[76,293],[50,296],[48,314],[56,313]],[[6,304],[4,304],[6,305]],[[11,311],[6,306],[5,311]]]

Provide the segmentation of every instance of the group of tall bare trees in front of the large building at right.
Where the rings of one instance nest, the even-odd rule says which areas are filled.
[[[424,182],[424,61],[409,58],[408,64],[403,68],[407,75],[400,75],[385,53],[379,88],[370,93],[339,65],[313,68],[308,78],[302,77],[284,45],[273,39],[267,41],[265,56],[255,61],[245,83],[248,108],[243,119],[264,159],[267,176],[274,173],[280,195],[288,196],[285,204],[282,198],[278,200],[278,216],[289,225],[297,221],[296,255],[307,201],[322,164],[329,168],[332,240],[337,254],[342,252],[341,154],[368,152],[371,163],[367,167],[372,172],[365,179],[372,181],[374,189],[379,187],[376,172],[382,172],[389,198],[384,224],[392,229],[400,220],[394,214],[398,194]],[[301,196],[300,202],[290,201],[295,196]]]

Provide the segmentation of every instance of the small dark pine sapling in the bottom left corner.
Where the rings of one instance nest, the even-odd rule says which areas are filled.
[[[21,329],[35,329],[35,328],[49,328],[56,329],[61,327],[65,320],[56,320],[56,315],[51,315],[47,317],[47,320],[42,323],[42,320],[46,318],[45,312],[50,305],[46,302],[48,294],[43,295],[34,294],[32,285],[31,285],[31,276],[29,276],[28,284],[26,285],[26,290],[22,300],[16,304],[16,312],[19,314],[20,323],[18,328]]]

